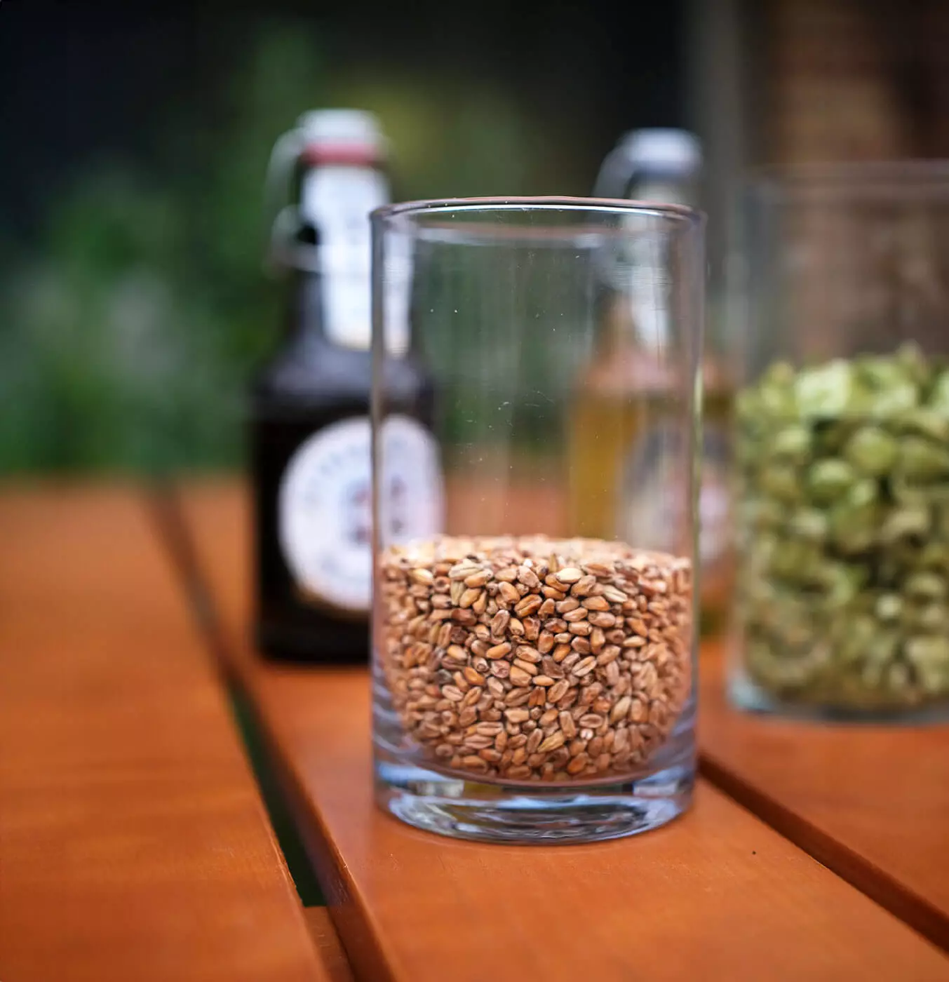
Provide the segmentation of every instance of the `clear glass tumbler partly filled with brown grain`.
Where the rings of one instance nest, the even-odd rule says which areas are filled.
[[[582,198],[372,215],[374,771],[412,825],[583,842],[691,800],[702,224]],[[442,501],[406,494],[436,467]],[[581,534],[579,499],[623,519]]]

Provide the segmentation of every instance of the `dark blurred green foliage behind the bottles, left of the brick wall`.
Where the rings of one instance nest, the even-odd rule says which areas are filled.
[[[397,198],[589,193],[686,122],[685,8],[0,3],[0,470],[238,464],[273,141],[375,111]]]

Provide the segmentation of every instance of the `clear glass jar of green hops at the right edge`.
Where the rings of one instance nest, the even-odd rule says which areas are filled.
[[[739,705],[949,710],[949,164],[748,189]]]

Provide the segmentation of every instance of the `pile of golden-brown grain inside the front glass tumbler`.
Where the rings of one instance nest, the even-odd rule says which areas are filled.
[[[618,777],[688,698],[687,559],[599,539],[442,536],[385,551],[380,580],[384,676],[440,769]]]

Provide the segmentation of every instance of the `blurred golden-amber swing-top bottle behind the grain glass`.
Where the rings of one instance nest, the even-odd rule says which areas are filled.
[[[698,206],[701,147],[683,130],[638,130],[603,161],[596,197]],[[668,514],[680,496],[676,475],[650,462],[660,445],[681,439],[670,426],[671,311],[655,270],[655,243],[640,237],[603,286],[596,347],[580,380],[573,413],[570,511],[581,535],[619,537],[642,548],[676,550],[684,517]],[[609,284],[609,275],[622,282]],[[704,424],[698,499],[701,627],[721,626],[731,588],[729,425],[732,386],[714,346],[702,365]],[[685,465],[685,462],[683,462]],[[603,480],[604,474],[612,475]]]

